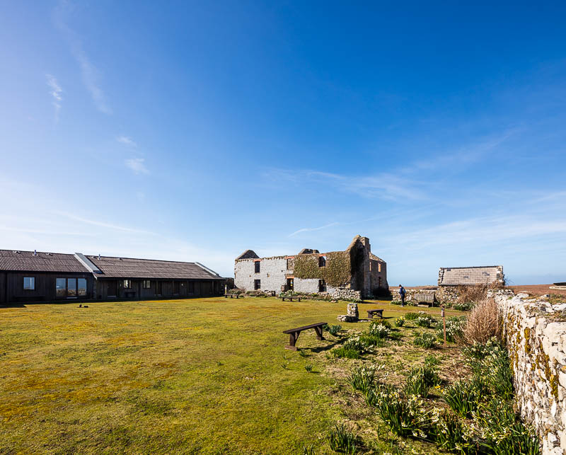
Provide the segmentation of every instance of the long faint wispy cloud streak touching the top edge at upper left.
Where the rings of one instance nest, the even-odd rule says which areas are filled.
[[[108,105],[103,89],[100,88],[100,71],[98,71],[83,50],[83,42],[79,35],[65,21],[73,6],[69,1],[59,1],[59,5],[53,11],[54,23],[64,33],[69,42],[71,54],[73,54],[74,59],[79,64],[83,84],[91,94],[94,105],[101,113],[110,115],[112,114],[112,109]]]

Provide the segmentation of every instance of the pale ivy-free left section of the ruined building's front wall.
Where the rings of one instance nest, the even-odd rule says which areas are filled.
[[[255,260],[241,259],[234,264],[234,284],[238,289],[253,291],[254,280],[261,280],[262,291],[281,292],[281,286],[286,282],[287,259],[284,256],[274,258],[263,258],[260,260],[260,272],[255,273]],[[318,283],[318,282],[317,282]]]

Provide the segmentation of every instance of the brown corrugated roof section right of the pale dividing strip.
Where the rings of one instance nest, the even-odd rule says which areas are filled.
[[[179,263],[171,260],[112,258],[86,256],[102,270],[100,278],[166,278],[178,280],[222,280],[218,275],[204,270],[197,263]]]

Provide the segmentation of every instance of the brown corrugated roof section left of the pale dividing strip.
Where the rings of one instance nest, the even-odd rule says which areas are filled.
[[[88,273],[72,254],[0,250],[0,270],[13,272]]]

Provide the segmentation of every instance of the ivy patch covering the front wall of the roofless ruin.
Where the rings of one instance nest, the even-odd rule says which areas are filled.
[[[296,278],[324,280],[332,287],[350,282],[350,256],[345,251],[326,253],[326,266],[318,267],[318,254],[295,256],[293,275]]]

